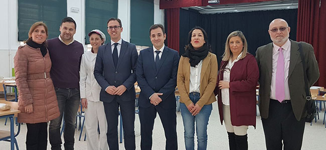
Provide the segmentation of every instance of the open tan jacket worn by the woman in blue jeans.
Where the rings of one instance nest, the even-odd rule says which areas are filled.
[[[203,59],[203,65],[200,76],[200,99],[198,104],[203,107],[205,104],[211,104],[216,101],[214,88],[217,80],[217,59],[214,53],[209,52]],[[180,92],[180,102],[187,106],[192,103],[189,98],[190,88],[190,63],[189,58],[181,56],[178,69],[178,89]]]

